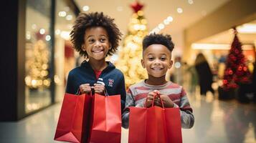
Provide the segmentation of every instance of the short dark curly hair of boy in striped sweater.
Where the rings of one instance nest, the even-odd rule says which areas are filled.
[[[163,46],[166,46],[169,51],[172,51],[174,49],[174,43],[171,41],[171,35],[166,34],[149,34],[144,37],[142,41],[143,51],[150,46],[151,44],[162,44]]]

